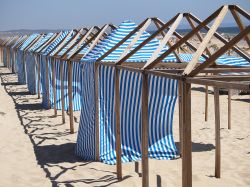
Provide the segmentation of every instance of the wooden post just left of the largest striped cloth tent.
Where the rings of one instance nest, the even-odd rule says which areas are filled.
[[[73,93],[72,93],[72,62],[68,63],[68,98],[69,98],[69,123],[70,133],[74,133],[74,119],[73,119]]]

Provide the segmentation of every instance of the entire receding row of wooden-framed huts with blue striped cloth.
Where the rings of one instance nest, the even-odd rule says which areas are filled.
[[[230,41],[216,32],[231,13],[240,32]],[[242,19],[248,21],[245,26]],[[183,20],[192,30],[176,29]],[[220,177],[219,89],[250,91],[250,56],[237,47],[250,46],[250,15],[236,5],[224,5],[204,21],[178,13],[167,22],[147,18],[140,24],[124,21],[58,33],[0,38],[1,61],[42,98],[55,115],[81,111],[75,154],[83,160],[115,164],[142,161],[142,186],[148,187],[148,158],[182,159],[182,186],[192,186],[191,84],[204,85],[207,115],[208,86],[215,97],[215,176]],[[149,32],[150,25],[157,30]],[[205,34],[201,34],[200,32]],[[199,45],[192,38],[200,40]],[[211,39],[224,45],[211,52]],[[210,42],[210,43],[209,43]],[[192,53],[184,53],[183,45]],[[227,56],[228,50],[235,56]],[[180,147],[173,138],[173,115],[179,104]],[[229,100],[229,107],[230,100]],[[228,113],[229,128],[231,114]],[[207,116],[206,116],[207,120]]]

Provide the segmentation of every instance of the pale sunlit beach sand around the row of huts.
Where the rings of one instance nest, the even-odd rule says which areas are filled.
[[[141,186],[135,163],[123,164],[124,180],[116,180],[115,166],[84,162],[74,155],[77,134],[61,123],[60,111],[45,110],[17,77],[0,67],[0,187],[19,186]],[[211,89],[211,88],[210,88]],[[227,96],[221,103],[221,179],[214,177],[213,95],[209,119],[204,121],[202,87],[192,91],[193,186],[250,186],[250,97],[232,98],[232,130],[227,129]],[[75,114],[79,121],[79,113]],[[68,117],[67,117],[68,120]],[[78,123],[75,123],[78,129]],[[174,137],[178,137],[178,105]],[[139,167],[141,164],[139,163]],[[150,186],[181,186],[181,159],[150,160]]]

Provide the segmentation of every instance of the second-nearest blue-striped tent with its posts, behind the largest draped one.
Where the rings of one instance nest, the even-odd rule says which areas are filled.
[[[79,64],[71,63],[69,59],[86,55],[102,37],[106,36],[106,31],[108,31],[109,28],[114,29],[115,27],[112,24],[106,24],[102,28],[94,26],[88,31],[86,30],[87,32],[85,32],[84,35],[76,36],[72,38],[72,40],[69,40],[65,46],[62,46],[61,51],[58,51],[58,53],[55,54],[56,56],[52,57],[52,59],[54,58],[53,63],[55,63],[55,67],[54,71],[52,70],[52,80],[54,81],[52,81],[52,86],[50,87],[54,98],[51,98],[51,100],[53,101],[54,99],[54,102],[57,103],[59,107],[61,104],[63,123],[65,122],[64,110],[68,108],[71,133],[74,132],[73,111],[80,109],[81,99]],[[55,114],[57,107],[58,106],[54,105]]]

